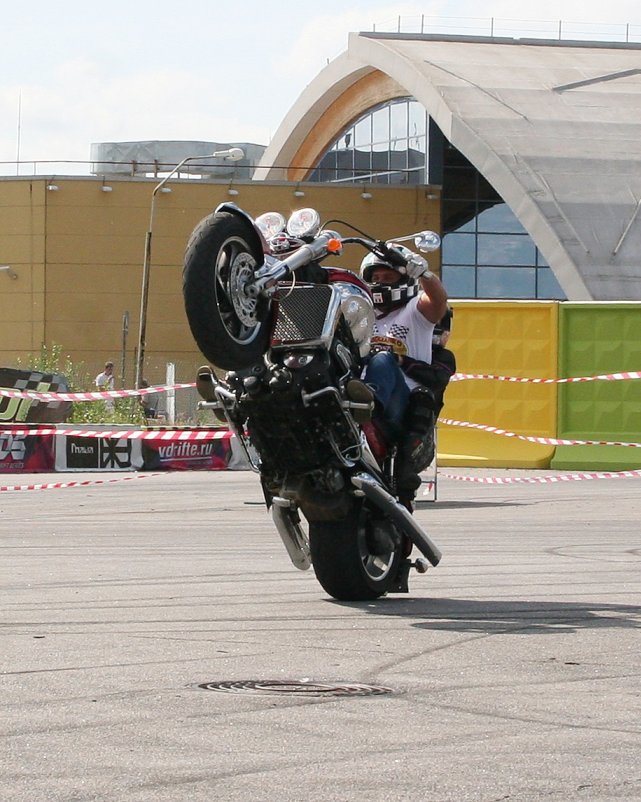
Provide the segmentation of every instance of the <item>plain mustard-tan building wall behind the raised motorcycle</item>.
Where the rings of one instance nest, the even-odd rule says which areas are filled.
[[[0,264],[18,274],[16,280],[0,274],[0,364],[11,366],[46,342],[62,346],[90,375],[106,358],[119,366],[129,312],[125,384],[132,386],[156,181],[108,181],[111,192],[101,191],[98,178],[56,177],[57,191],[47,191],[47,183],[0,180]],[[425,187],[375,186],[364,200],[357,186],[305,185],[304,198],[294,196],[294,184],[235,183],[233,198],[228,182],[172,180],[168,186],[171,193],[157,195],[153,225],[145,360],[152,382],[162,380],[167,361],[178,364],[178,380],[191,381],[203,361],[183,311],[182,260],[192,229],[219,203],[233,200],[252,215],[277,209],[287,216],[313,206],[323,220],[340,218],[379,238],[439,227],[438,203],[427,199]],[[349,246],[339,263],[358,267],[362,255]]]

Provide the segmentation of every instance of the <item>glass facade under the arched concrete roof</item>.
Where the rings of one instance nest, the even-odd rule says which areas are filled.
[[[412,98],[352,123],[308,180],[440,184],[441,276],[450,297],[566,298],[509,206]]]

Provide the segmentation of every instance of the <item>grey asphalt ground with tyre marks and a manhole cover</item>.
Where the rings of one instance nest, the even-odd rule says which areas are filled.
[[[113,478],[0,492],[0,799],[641,799],[641,479],[441,476],[441,564],[347,604],[254,474]]]

